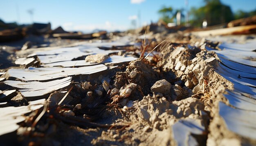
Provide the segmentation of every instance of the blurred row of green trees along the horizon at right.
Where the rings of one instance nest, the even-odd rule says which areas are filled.
[[[158,13],[161,15],[160,19],[166,23],[176,21],[176,14],[180,12],[182,17],[182,23],[185,24],[186,11],[184,9],[173,9],[173,7],[162,7]],[[231,7],[223,4],[220,0],[204,0],[204,6],[195,8],[192,7],[189,11],[189,24],[195,27],[201,27],[204,20],[207,21],[208,26],[223,24],[240,18],[246,18],[256,15],[256,9],[254,11],[242,11],[238,10],[235,13],[232,12]]]

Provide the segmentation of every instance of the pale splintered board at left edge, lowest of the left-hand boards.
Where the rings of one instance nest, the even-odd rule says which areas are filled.
[[[45,99],[29,103],[28,106],[9,106],[0,108],[0,135],[16,131],[20,126],[18,123],[24,121],[27,113],[43,107]]]

